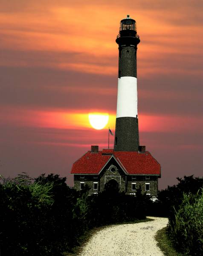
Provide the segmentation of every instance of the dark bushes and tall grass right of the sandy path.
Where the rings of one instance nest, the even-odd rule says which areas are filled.
[[[159,191],[148,204],[148,215],[168,217],[165,231],[183,255],[203,255],[203,178],[184,176],[179,183]]]

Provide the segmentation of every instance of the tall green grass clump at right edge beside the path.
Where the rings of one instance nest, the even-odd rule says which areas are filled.
[[[203,255],[203,189],[196,195],[183,194],[174,218],[169,219],[169,229],[175,246],[184,255]]]

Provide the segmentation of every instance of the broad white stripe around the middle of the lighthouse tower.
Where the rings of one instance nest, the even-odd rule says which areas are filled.
[[[116,118],[136,116],[137,79],[133,76],[122,76],[118,81]]]

